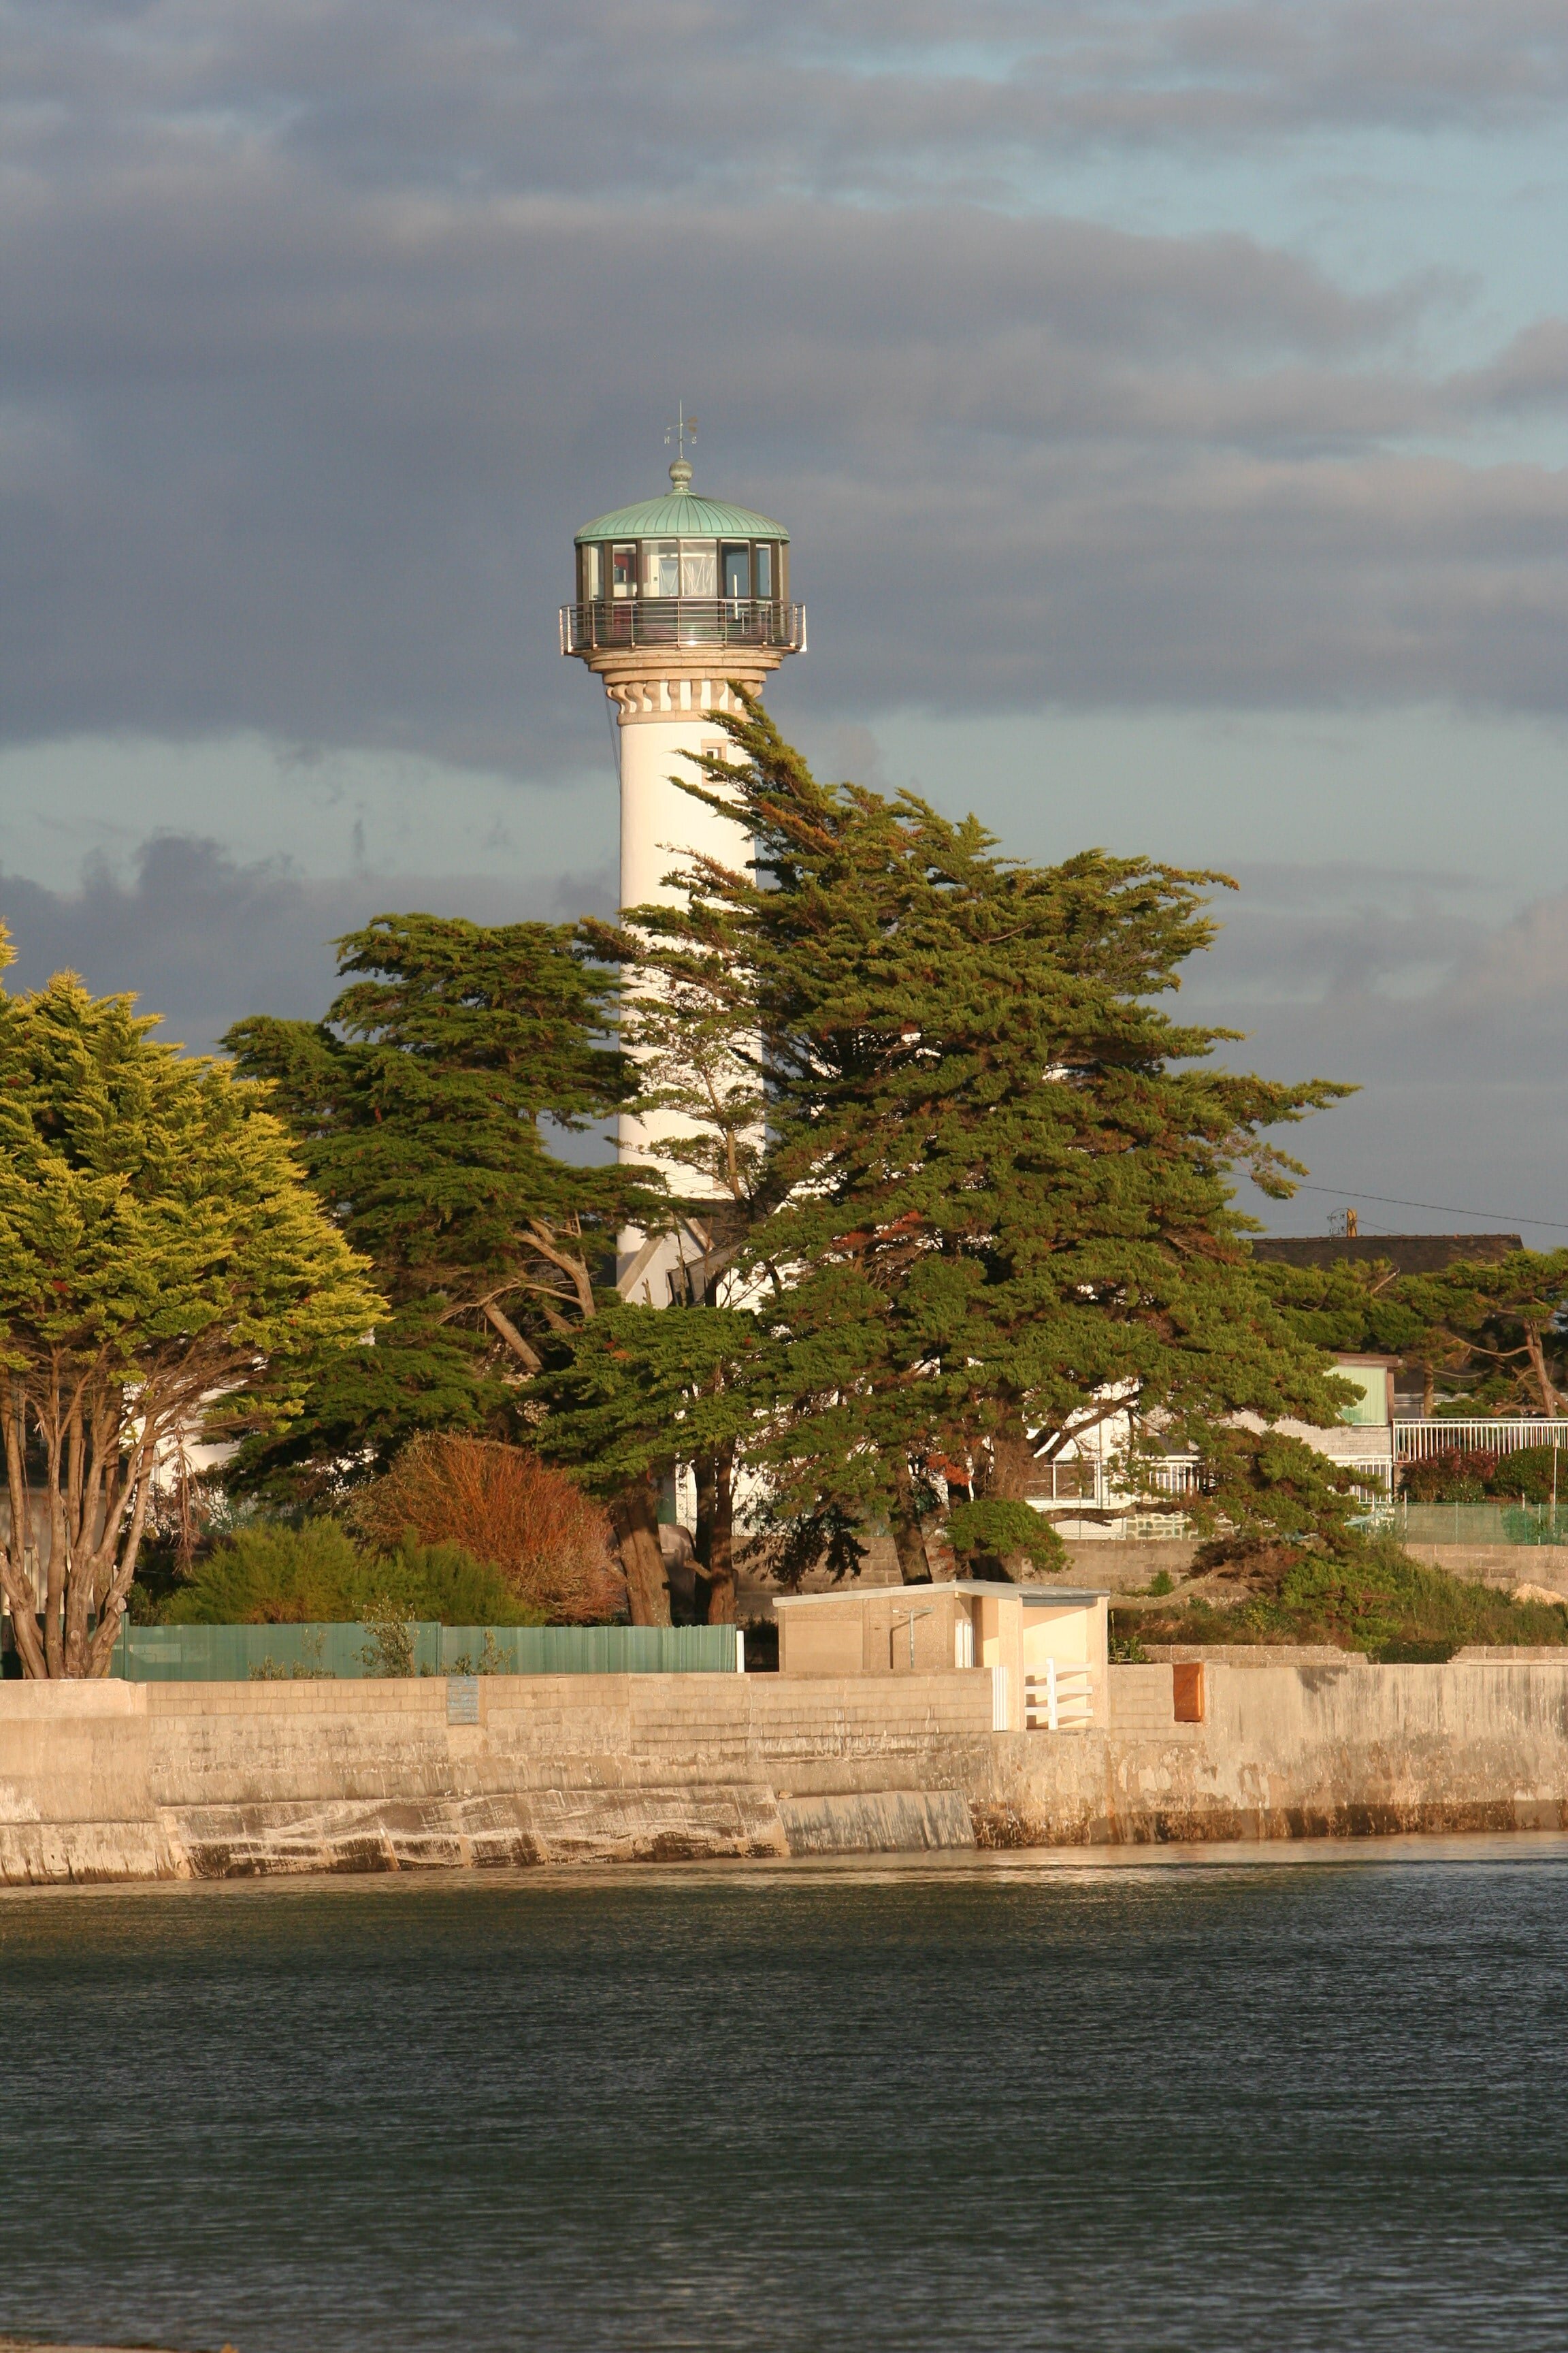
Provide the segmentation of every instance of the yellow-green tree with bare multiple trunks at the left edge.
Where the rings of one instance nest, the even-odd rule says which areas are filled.
[[[294,1414],[306,1362],[383,1311],[266,1089],[155,1026],[71,972],[0,991],[0,1584],[28,1675],[108,1673],[160,1464]]]

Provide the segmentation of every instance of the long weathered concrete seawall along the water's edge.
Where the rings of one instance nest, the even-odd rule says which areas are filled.
[[[1559,1828],[1568,1661],[1110,1671],[997,1734],[987,1673],[0,1685],[0,1882]]]

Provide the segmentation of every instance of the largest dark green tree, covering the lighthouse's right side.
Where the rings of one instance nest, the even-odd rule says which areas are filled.
[[[1157,1002],[1225,878],[1098,849],[1011,861],[973,816],[818,784],[755,704],[715,725],[733,748],[693,788],[741,816],[757,866],[698,864],[691,906],[635,911],[621,953],[649,995],[705,998],[705,1068],[682,1092],[672,1052],[658,1078],[710,1181],[726,1104],[766,1094],[731,1191],[733,1278],[776,1344],[757,1398],[776,1508],[886,1515],[914,1579],[938,1475],[1023,1501],[1039,1459],[1117,1414],[1138,1445],[1199,1452],[1239,1412],[1335,1419],[1232,1181],[1288,1193],[1267,1129],[1347,1089],[1220,1071],[1234,1033]],[[715,1096],[719,1047],[741,1078]]]

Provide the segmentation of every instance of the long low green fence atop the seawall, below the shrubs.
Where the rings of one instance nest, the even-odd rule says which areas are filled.
[[[409,1626],[416,1675],[733,1675],[733,1626]],[[376,1675],[369,1626],[120,1626],[127,1682]]]

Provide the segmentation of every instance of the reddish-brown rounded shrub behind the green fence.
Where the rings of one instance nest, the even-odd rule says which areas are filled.
[[[625,1614],[604,1511],[524,1447],[416,1438],[353,1511],[360,1534],[395,1546],[461,1544],[494,1560],[517,1600],[567,1626]]]

